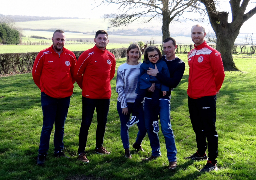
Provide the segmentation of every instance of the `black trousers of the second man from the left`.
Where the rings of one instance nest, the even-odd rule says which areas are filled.
[[[78,153],[82,153],[85,151],[88,130],[92,122],[95,108],[97,112],[98,122],[96,130],[96,148],[100,148],[103,145],[109,104],[109,99],[89,99],[82,97],[82,123],[79,134]]]

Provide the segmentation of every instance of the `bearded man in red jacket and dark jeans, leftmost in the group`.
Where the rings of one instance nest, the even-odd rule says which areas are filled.
[[[64,124],[75,83],[74,70],[77,60],[73,52],[64,48],[64,32],[56,30],[53,33],[52,42],[51,47],[39,52],[32,71],[34,82],[41,90],[43,110],[38,165],[43,165],[45,162],[54,123],[54,156],[65,157]]]

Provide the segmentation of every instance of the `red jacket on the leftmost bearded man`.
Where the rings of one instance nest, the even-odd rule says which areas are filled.
[[[32,76],[35,84],[50,97],[65,98],[73,94],[76,56],[63,48],[59,55],[49,47],[40,51],[34,62]]]

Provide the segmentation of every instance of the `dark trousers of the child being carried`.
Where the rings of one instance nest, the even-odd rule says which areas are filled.
[[[152,100],[150,101],[149,106],[149,113],[150,113],[150,119],[151,121],[157,121],[158,120],[158,114],[159,114],[159,97],[160,97],[160,89],[156,88],[154,92],[150,93]],[[133,106],[133,116],[139,115],[139,107],[141,106],[141,103],[144,100],[144,97],[148,95],[149,92],[147,89],[140,89],[138,90],[138,95],[135,99],[134,106]]]

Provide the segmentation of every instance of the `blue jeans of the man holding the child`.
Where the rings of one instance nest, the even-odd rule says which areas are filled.
[[[152,99],[145,98],[144,102],[144,117],[145,117],[145,125],[148,133],[148,137],[150,140],[150,146],[152,148],[152,156],[160,156],[160,142],[158,135],[153,132],[152,121],[150,120],[150,104]],[[174,135],[171,126],[170,120],[170,100],[169,99],[160,99],[159,100],[159,115],[160,115],[160,123],[162,133],[165,138],[165,144],[167,149],[167,158],[169,162],[177,161],[177,149],[175,145]]]

